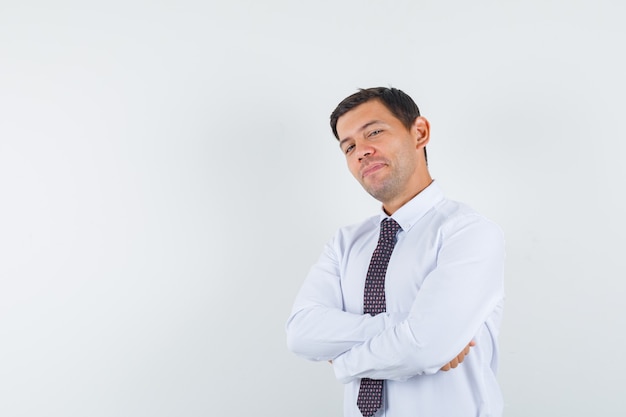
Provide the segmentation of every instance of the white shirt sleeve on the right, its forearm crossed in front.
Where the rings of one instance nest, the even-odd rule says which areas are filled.
[[[408,317],[333,361],[341,382],[434,374],[472,340],[504,297],[504,238],[479,215],[442,227],[437,263]]]

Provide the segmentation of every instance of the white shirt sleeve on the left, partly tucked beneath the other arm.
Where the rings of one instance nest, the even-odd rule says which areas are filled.
[[[310,360],[335,359],[406,318],[407,313],[376,316],[344,311],[339,265],[333,241],[305,279],[287,321],[287,346]]]

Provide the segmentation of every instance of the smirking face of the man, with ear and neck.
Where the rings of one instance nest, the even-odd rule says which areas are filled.
[[[337,121],[350,172],[388,212],[421,191],[426,180],[430,183],[423,157],[428,132],[423,117],[407,129],[379,100],[365,102]]]

